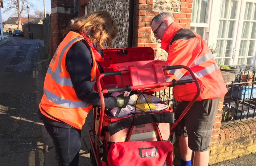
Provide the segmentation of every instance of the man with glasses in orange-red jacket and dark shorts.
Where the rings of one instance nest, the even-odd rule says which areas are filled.
[[[219,98],[227,93],[221,72],[204,40],[174,22],[172,14],[160,13],[150,25],[155,38],[161,40],[161,48],[168,53],[168,64],[188,66],[200,83],[200,96],[178,125],[181,166],[191,166],[192,151],[195,152],[194,165],[208,166],[209,143]],[[167,81],[191,78],[185,69],[166,72]],[[195,95],[195,83],[174,87],[174,98],[178,101],[176,119]]]

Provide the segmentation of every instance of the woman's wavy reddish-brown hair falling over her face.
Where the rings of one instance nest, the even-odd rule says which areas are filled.
[[[92,43],[98,43],[97,49],[103,49],[104,44],[111,47],[112,39],[118,34],[118,28],[111,15],[106,11],[96,11],[86,16],[70,21],[68,28],[64,31],[64,37],[72,30],[80,30]]]

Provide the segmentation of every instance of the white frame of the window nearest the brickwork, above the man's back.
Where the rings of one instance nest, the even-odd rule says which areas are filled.
[[[204,27],[204,34],[203,34],[202,38],[204,39],[204,41],[206,43],[208,42],[209,22],[210,22],[210,13],[211,13],[210,10],[211,10],[211,6],[212,6],[212,2],[213,2],[212,0],[209,0],[207,23],[195,23],[195,22],[190,23],[190,27],[194,27],[195,32],[196,32],[196,27]],[[194,5],[194,3],[192,5]],[[193,6],[192,6],[192,10],[193,10]],[[197,22],[199,22],[199,20],[200,20],[201,0],[199,0],[199,3],[198,3],[198,13],[199,13],[199,15],[197,17]]]

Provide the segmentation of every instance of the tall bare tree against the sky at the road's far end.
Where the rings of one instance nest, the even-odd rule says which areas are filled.
[[[18,29],[22,29],[21,27],[21,17],[23,11],[27,10],[27,6],[30,9],[34,9],[33,0],[5,0],[5,10],[4,12],[12,13],[13,15],[18,15]]]

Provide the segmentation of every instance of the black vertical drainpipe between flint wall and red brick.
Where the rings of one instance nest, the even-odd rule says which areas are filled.
[[[128,47],[132,47],[132,39],[133,39],[133,7],[134,7],[134,0],[130,0],[130,2],[129,2]]]

